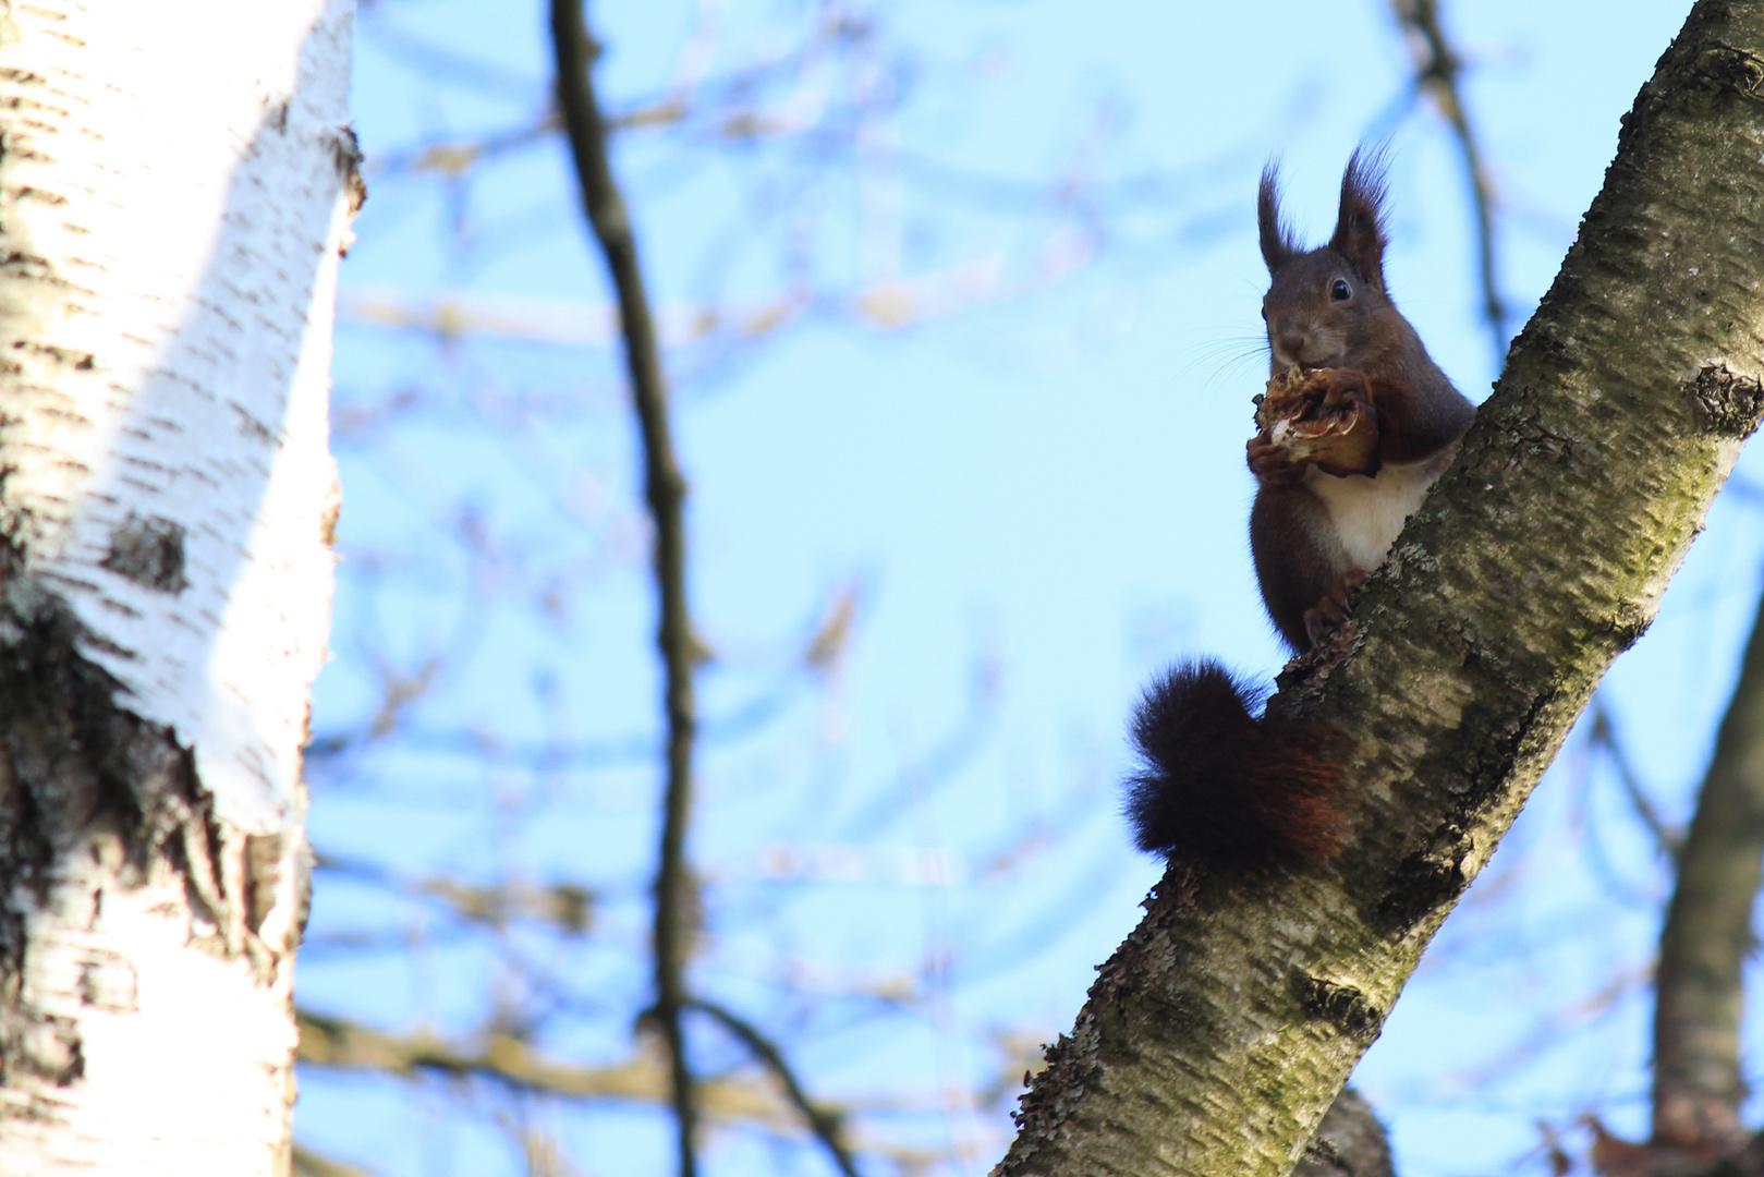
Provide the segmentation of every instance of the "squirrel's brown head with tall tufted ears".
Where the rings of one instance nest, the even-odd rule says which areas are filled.
[[[1341,178],[1341,215],[1328,245],[1302,251],[1281,222],[1279,175],[1261,171],[1256,224],[1272,282],[1261,300],[1275,372],[1358,367],[1392,311],[1385,291],[1385,157],[1360,148]]]

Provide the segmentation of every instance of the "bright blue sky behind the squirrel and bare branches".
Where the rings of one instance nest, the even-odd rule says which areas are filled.
[[[801,7],[781,0],[594,5],[607,104],[663,94],[693,14],[718,11],[711,76],[801,28]],[[850,146],[806,155],[699,127],[632,132],[616,159],[669,321],[706,305],[751,318],[792,282],[815,289],[783,328],[729,355],[686,344],[674,362],[693,607],[718,653],[704,709],[780,699],[764,731],[706,750],[693,852],[714,882],[720,937],[704,983],[755,1016],[787,1018],[785,956],[847,979],[912,974],[940,949],[956,960],[942,990],[928,983],[912,1032],[808,1018],[803,1066],[843,1096],[975,1076],[988,1029],[1069,1027],[1092,965],[1159,873],[1115,815],[1140,685],[1194,653],[1256,674],[1281,663],[1244,540],[1242,443],[1265,376],[1252,226],[1263,159],[1282,161],[1288,208],[1316,240],[1348,154],[1388,134],[1394,295],[1471,399],[1494,376],[1455,148],[1425,104],[1404,113],[1408,55],[1379,4],[868,12],[880,28],[864,49],[871,74],[829,67],[767,92],[785,118],[852,78],[905,83],[871,94],[889,113]],[[1446,18],[1501,194],[1501,288],[1517,328],[1683,11],[1485,2]],[[369,159],[529,125],[549,85],[543,32],[527,4],[367,7],[355,111]],[[1078,196],[1062,203],[1053,176],[1073,176]],[[388,667],[415,674],[450,653],[404,736],[349,775],[314,775],[314,840],[409,872],[593,882],[607,895],[605,944],[584,951],[580,976],[609,1006],[635,1009],[653,766],[487,766],[448,738],[515,746],[654,731],[616,355],[593,342],[437,344],[362,311],[457,296],[593,337],[607,291],[564,154],[540,139],[457,185],[385,169],[370,184],[344,268],[346,563],[316,731],[370,715]],[[781,245],[792,240],[808,258],[796,270]],[[935,307],[926,289],[960,305]],[[878,321],[900,305],[930,311]],[[487,536],[476,558],[462,535]],[[1723,498],[1660,621],[1611,676],[1625,739],[1672,815],[1688,812],[1757,568],[1755,508]],[[808,681],[792,655],[841,586],[859,600],[848,658],[834,679]],[[1639,1131],[1644,974],[1665,877],[1607,776],[1570,745],[1362,1064],[1401,1172],[1505,1172],[1536,1143],[1535,1121],[1566,1126],[1595,1106]],[[988,873],[990,856],[1030,840],[1032,865]],[[947,854],[958,877],[766,882],[780,847],[833,861],[854,845]],[[321,877],[316,928],[411,919],[376,903]],[[303,958],[302,1001],[381,1025],[469,1029],[496,969],[434,951],[429,965]],[[610,1059],[626,1031],[579,1018],[547,1041]],[[441,1096],[314,1073],[303,1083],[302,1133],[340,1154],[379,1156],[388,1172],[506,1165],[489,1136],[446,1122]],[[591,1158],[586,1172],[667,1172],[640,1115],[557,1115]],[[376,1143],[407,1140],[413,1124],[457,1135],[457,1147]],[[716,1172],[766,1172],[769,1156],[729,1143]]]

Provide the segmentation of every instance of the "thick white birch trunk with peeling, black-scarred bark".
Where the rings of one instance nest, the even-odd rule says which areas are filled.
[[[0,1173],[279,1173],[351,0],[0,4]]]

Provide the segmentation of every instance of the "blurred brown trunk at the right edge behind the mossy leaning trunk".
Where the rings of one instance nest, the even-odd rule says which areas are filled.
[[[1741,971],[1764,877],[1764,602],[1702,778],[1660,932],[1655,1142],[1745,1143],[1739,1105]]]

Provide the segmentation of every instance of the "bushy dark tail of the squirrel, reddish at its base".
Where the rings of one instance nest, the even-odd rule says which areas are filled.
[[[1141,771],[1127,780],[1125,803],[1141,851],[1221,866],[1341,852],[1339,736],[1251,715],[1259,702],[1212,660],[1175,665],[1147,688],[1132,716]]]

